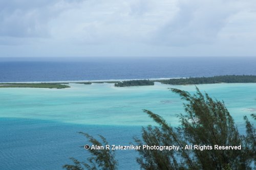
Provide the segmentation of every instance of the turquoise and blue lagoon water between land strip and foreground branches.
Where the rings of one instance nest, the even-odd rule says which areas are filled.
[[[85,160],[77,131],[105,136],[110,144],[129,145],[142,126],[155,125],[142,109],[177,126],[183,101],[168,88],[195,92],[194,85],[115,87],[109,83],[70,84],[66,89],[0,88],[0,169],[62,169],[69,157]],[[223,100],[239,130],[244,115],[256,112],[256,84],[198,85]],[[120,169],[138,169],[137,153],[117,151]]]

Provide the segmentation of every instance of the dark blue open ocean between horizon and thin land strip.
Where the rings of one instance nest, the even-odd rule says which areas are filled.
[[[252,57],[0,58],[0,82],[256,75]]]

